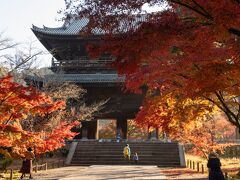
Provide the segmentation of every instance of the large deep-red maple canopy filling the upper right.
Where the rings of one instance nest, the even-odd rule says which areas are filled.
[[[100,46],[90,45],[89,51],[94,56],[103,52],[114,56],[114,65],[126,76],[127,89],[139,93],[144,85],[148,93],[159,91],[163,100],[170,96],[181,102],[207,100],[240,129],[238,0],[65,2],[67,19],[89,18],[80,35],[92,35],[96,27],[101,30]],[[146,4],[157,6],[155,12],[145,11]],[[161,98],[148,98],[140,114],[151,117],[149,103],[155,103],[152,112],[159,116]],[[204,109],[206,104],[197,106]],[[162,121],[168,127],[170,119]]]

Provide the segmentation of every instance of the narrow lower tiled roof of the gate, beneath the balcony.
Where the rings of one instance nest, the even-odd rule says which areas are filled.
[[[118,74],[48,74],[43,78],[29,76],[28,79],[36,81],[75,82],[75,83],[121,83],[124,76]]]

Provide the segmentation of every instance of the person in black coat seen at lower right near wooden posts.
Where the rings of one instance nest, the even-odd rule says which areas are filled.
[[[221,162],[216,153],[209,154],[207,167],[209,168],[209,180],[224,180]]]

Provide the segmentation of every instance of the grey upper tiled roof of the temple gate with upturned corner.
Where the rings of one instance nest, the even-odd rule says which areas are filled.
[[[131,23],[131,26],[137,27],[138,23],[144,22],[146,19],[145,15],[136,16],[135,20]],[[58,28],[49,28],[43,26],[43,28],[39,28],[37,26],[32,26],[33,32],[40,32],[48,35],[78,35],[79,32],[87,26],[89,19],[82,18],[82,19],[72,19],[68,22],[65,22],[61,27]],[[122,32],[126,32],[128,29],[126,23],[120,23],[120,27],[118,30]],[[92,33],[95,35],[104,34],[104,31],[100,28],[94,28]]]

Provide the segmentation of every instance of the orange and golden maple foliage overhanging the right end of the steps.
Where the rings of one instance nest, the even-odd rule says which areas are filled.
[[[172,140],[192,145],[192,152],[207,158],[212,151],[223,153],[233,143],[218,141],[235,134],[234,126],[221,116],[207,100],[179,101],[172,97],[155,97],[145,102],[135,121],[141,127],[159,128]]]

